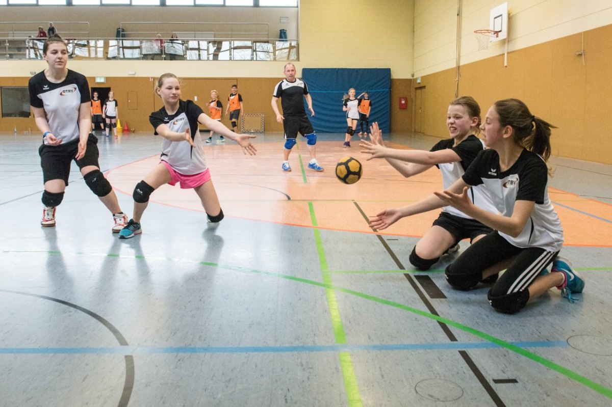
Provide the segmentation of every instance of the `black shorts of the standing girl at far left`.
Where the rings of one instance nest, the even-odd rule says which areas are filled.
[[[70,175],[70,164],[75,160],[79,169],[87,166],[96,166],[100,168],[98,157],[98,139],[93,134],[89,134],[87,139],[87,148],[85,155],[81,160],[76,160],[75,156],[78,152],[78,140],[71,141],[60,145],[41,145],[39,147],[40,167],[42,167],[43,182],[51,180],[64,180],[68,186],[68,177]]]

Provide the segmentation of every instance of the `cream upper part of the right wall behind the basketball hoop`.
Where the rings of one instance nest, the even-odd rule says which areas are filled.
[[[458,0],[415,0],[414,75],[455,67]],[[501,0],[462,0],[460,64],[504,53],[505,42],[478,50],[474,30],[488,29],[490,10]],[[612,24],[612,0],[509,0],[508,50]],[[578,50],[577,50],[578,51]]]

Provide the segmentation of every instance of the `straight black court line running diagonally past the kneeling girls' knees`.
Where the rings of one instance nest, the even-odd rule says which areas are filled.
[[[357,204],[357,202],[355,202],[355,201],[353,201],[353,203],[357,207],[357,210],[359,210],[361,215],[364,217],[365,221],[368,222],[369,221],[368,216],[365,215],[365,212],[361,209],[359,204]],[[375,230],[375,229],[372,229],[372,230],[374,230],[374,232],[378,232],[378,230]],[[387,242],[384,241],[383,237],[381,235],[376,235],[376,237],[381,242],[381,244],[383,244],[383,247],[386,249],[387,253],[389,253],[391,259],[394,260],[394,262],[398,266],[398,268],[400,268],[400,270],[406,270],[404,265],[400,262],[400,260],[397,258],[395,253],[389,247],[389,244],[387,244]],[[412,278],[412,276],[409,273],[404,273],[404,277],[406,277],[406,280],[408,280],[408,282],[412,286],[412,289],[414,290],[414,292],[417,293],[417,295],[419,296],[419,298],[421,299],[423,304],[425,304],[425,307],[427,307],[427,310],[431,314],[436,315],[437,317],[439,317],[440,314],[438,314],[438,311],[436,311],[435,307],[433,307],[433,305],[431,304],[431,302],[429,301],[427,296],[425,296],[425,293],[419,288],[419,285],[417,285],[417,283],[414,280],[414,278]],[[453,332],[450,331],[450,328],[446,324],[444,324],[444,323],[442,323],[440,321],[437,321],[437,322],[438,322],[438,325],[440,326],[440,328],[442,328],[442,331],[444,331],[444,333],[446,334],[446,336],[449,338],[449,340],[451,342],[458,342],[457,341],[457,337],[455,337]],[[502,400],[499,397],[499,395],[495,392],[493,387],[491,387],[491,384],[488,383],[488,381],[485,378],[485,376],[482,374],[482,372],[480,372],[480,370],[478,369],[476,363],[474,363],[472,358],[470,358],[469,354],[466,351],[459,351],[459,354],[461,355],[461,358],[463,358],[463,360],[466,362],[466,364],[468,365],[468,367],[472,371],[472,373],[474,373],[474,376],[476,376],[477,380],[480,382],[480,385],[483,387],[483,389],[485,389],[485,391],[491,397],[491,400],[493,400],[493,403],[495,403],[495,405],[497,407],[506,407],[506,405],[504,404],[504,402],[502,402]]]

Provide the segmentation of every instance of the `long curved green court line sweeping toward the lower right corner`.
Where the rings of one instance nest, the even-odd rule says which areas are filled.
[[[17,253],[28,253],[28,252],[43,252],[43,253],[47,253],[47,254],[62,254],[61,252],[57,252],[57,251],[2,251],[3,253],[10,253],[10,252],[17,252]],[[86,254],[81,254],[81,255],[86,255]],[[89,256],[92,256],[92,254],[87,254]],[[95,254],[93,254],[95,255]],[[103,257],[106,257],[106,255],[101,255]],[[135,259],[135,256],[129,256],[129,255],[119,255],[119,258],[122,259]],[[158,259],[158,258],[154,258],[154,257],[147,257],[148,260],[152,260],[152,259]],[[167,258],[159,258],[159,260],[168,260]],[[440,321],[446,325],[450,325],[450,326],[454,326],[457,329],[460,329],[461,331],[464,332],[468,332],[468,334],[471,334],[473,336],[479,337],[480,339],[486,340],[487,342],[491,342],[491,343],[495,343],[496,345],[499,345],[502,348],[506,348],[507,350],[513,352],[513,353],[517,353],[521,356],[524,356],[525,358],[531,359],[532,361],[543,365],[544,367],[547,367],[550,370],[554,370],[555,372],[561,373],[564,376],[567,376],[568,378],[577,381],[580,384],[583,384],[586,387],[589,387],[590,389],[594,390],[595,392],[598,392],[599,394],[604,395],[605,397],[608,397],[610,399],[612,399],[612,389],[609,389],[608,387],[603,386],[602,384],[599,383],[595,383],[594,381],[592,381],[589,378],[586,378],[584,376],[581,376],[579,373],[577,372],[573,372],[573,370],[567,369],[559,364],[554,363],[553,361],[550,361],[546,358],[542,358],[542,356],[539,356],[538,354],[529,352],[527,350],[524,350],[523,348],[520,348],[516,345],[513,345],[512,343],[506,342],[505,340],[496,338],[494,336],[491,336],[489,334],[486,334],[485,332],[482,331],[478,331],[477,329],[471,328],[469,326],[463,325],[461,323],[455,322],[453,320],[449,320],[447,318],[443,318],[443,317],[439,317],[438,315],[433,315],[430,314],[429,312],[426,312],[424,310],[420,310],[420,309],[416,309],[413,307],[409,307],[406,306],[405,304],[399,304],[399,303],[395,303],[394,301],[388,301],[386,299],[383,298],[378,298],[372,295],[368,295],[365,293],[360,293],[360,292],[356,292],[354,290],[349,290],[348,288],[343,288],[343,287],[336,287],[334,285],[328,285],[325,284],[323,282],[318,282],[318,281],[313,281],[313,280],[308,280],[308,279],[303,279],[301,277],[295,277],[295,276],[289,276],[287,274],[280,274],[280,273],[271,273],[270,271],[263,271],[263,270],[256,270],[256,269],[251,269],[251,268],[245,268],[245,267],[241,267],[241,266],[231,266],[231,265],[220,265],[218,263],[211,263],[211,262],[198,262],[195,260],[180,260],[181,262],[193,262],[193,263],[197,263],[199,265],[203,265],[203,266],[211,266],[211,267],[216,267],[216,268],[224,268],[226,270],[233,270],[233,271],[238,271],[241,273],[251,273],[251,274],[259,274],[262,276],[268,276],[268,277],[277,277],[277,278],[281,278],[281,279],[285,279],[285,280],[289,280],[289,281],[295,281],[295,282],[301,282],[304,284],[309,284],[309,285],[314,285],[316,287],[321,287],[321,288],[329,288],[330,290],[335,290],[341,293],[345,293],[348,295],[353,295],[353,296],[357,296],[359,298],[363,298],[363,299],[367,299],[368,301],[373,301],[375,303],[379,303],[379,304],[383,304],[386,306],[390,306],[390,307],[394,307],[397,309],[401,309],[401,310],[405,310],[408,312],[412,312],[413,314],[417,314],[420,315],[422,317],[425,318],[429,318],[431,320],[436,320],[436,321]],[[350,394],[347,391],[347,395]]]

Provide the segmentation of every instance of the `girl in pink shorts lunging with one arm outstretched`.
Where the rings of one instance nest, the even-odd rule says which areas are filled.
[[[159,77],[155,93],[162,98],[163,107],[151,113],[149,122],[155,129],[154,134],[163,137],[162,155],[160,163],[136,184],[133,193],[134,217],[119,233],[120,239],[131,238],[142,232],[140,219],[149,204],[149,196],[164,184],[176,185],[178,182],[182,189],[193,188],[200,197],[208,221],[217,223],[223,219],[223,211],[204,158],[198,123],[236,141],[245,154],[255,155],[257,151],[250,142],[255,136],[234,133],[221,122],[206,116],[193,101],[181,100],[181,84],[173,73]]]

